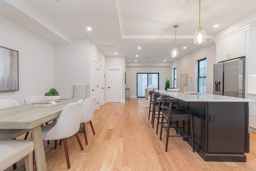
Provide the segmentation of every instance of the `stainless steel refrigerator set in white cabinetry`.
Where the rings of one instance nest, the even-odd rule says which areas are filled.
[[[245,58],[213,65],[213,94],[244,98]]]

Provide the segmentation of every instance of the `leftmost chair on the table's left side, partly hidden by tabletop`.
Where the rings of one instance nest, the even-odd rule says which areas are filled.
[[[18,106],[19,103],[14,99],[1,99],[0,100],[0,109],[6,109],[10,107]],[[1,114],[1,112],[0,112]],[[30,129],[0,129],[0,139],[16,139],[20,135],[25,133],[28,134]],[[26,135],[24,139],[27,139]],[[13,164],[13,169],[16,169],[16,163]]]

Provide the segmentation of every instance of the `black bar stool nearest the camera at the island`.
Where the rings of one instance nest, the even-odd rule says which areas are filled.
[[[170,97],[161,97],[160,101],[163,103],[162,105],[162,121],[161,121],[161,130],[160,130],[160,140],[162,139],[162,129],[166,129],[166,146],[165,151],[168,149],[168,140],[169,137],[183,137],[183,141],[185,141],[184,137],[191,137],[192,139],[192,149],[193,152],[195,152],[195,145],[194,145],[194,127],[193,127],[193,114],[188,113],[183,109],[172,109],[172,101]],[[164,120],[167,121],[167,126],[164,125]],[[172,121],[176,121],[176,127],[172,127]],[[184,131],[184,121],[189,120],[190,121],[190,131],[191,135],[188,135]],[[178,121],[182,121],[182,129],[181,127],[178,127]],[[178,132],[178,129],[182,131],[182,135],[169,135],[170,128],[175,128],[176,133]]]

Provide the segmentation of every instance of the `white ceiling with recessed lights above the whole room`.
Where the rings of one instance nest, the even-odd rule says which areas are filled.
[[[201,27],[207,41],[255,12],[256,0],[201,0]],[[170,57],[176,24],[179,58],[203,46],[193,40],[199,0],[0,0],[0,15],[54,44],[89,38],[105,56],[125,56],[126,62],[176,60]]]

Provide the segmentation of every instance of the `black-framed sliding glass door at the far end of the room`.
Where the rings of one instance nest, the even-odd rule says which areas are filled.
[[[159,73],[137,73],[137,97],[145,97],[145,89],[158,89]]]

